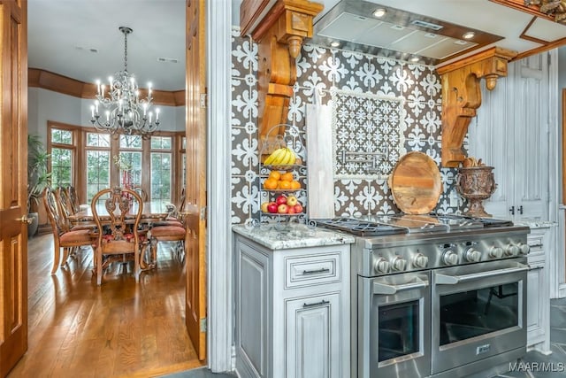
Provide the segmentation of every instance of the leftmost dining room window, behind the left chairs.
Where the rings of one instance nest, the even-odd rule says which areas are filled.
[[[53,187],[73,185],[74,166],[73,130],[50,128],[50,171]]]

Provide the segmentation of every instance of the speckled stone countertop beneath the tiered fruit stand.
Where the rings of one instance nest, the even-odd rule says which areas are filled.
[[[246,236],[271,250],[318,247],[322,245],[351,244],[354,236],[322,228],[309,228],[302,224],[290,223],[275,227],[262,225],[258,228],[235,225],[233,232]]]

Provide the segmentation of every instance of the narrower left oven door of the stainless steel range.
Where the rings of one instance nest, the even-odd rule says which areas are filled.
[[[358,377],[427,376],[430,274],[358,277]]]

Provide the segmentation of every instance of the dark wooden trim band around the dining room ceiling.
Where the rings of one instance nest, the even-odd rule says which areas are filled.
[[[58,73],[51,73],[38,68],[27,70],[27,86],[41,88],[68,96],[93,99],[96,96],[96,84],[78,81]],[[140,96],[147,96],[147,89],[140,89]],[[185,91],[153,90],[153,104],[163,106],[185,106]]]

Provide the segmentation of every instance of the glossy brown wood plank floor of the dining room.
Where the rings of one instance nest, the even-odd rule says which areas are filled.
[[[28,242],[28,350],[8,376],[149,377],[198,361],[185,328],[185,271],[160,244],[157,269],[138,284],[132,266],[111,266],[102,286],[92,250],[50,274],[52,235]]]

